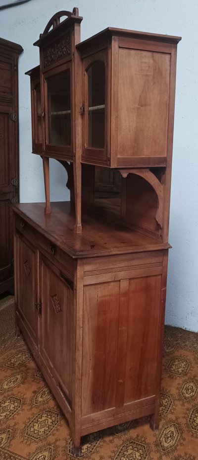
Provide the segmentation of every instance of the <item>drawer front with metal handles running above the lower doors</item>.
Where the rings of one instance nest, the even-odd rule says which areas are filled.
[[[15,216],[15,228],[20,231],[34,247],[47,256],[52,263],[63,270],[72,282],[74,281],[75,262],[72,257],[17,215]]]

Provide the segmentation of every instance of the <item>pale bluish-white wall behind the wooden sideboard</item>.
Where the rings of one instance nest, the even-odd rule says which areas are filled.
[[[166,323],[198,331],[198,1],[32,0],[0,12],[0,36],[22,45],[19,59],[20,197],[44,201],[42,161],[31,154],[30,82],[39,38],[57,11],[79,7],[81,39],[108,26],[181,35],[178,45]],[[64,169],[51,162],[51,200],[65,199]],[[68,197],[68,195],[67,195]],[[68,198],[67,198],[68,199]]]

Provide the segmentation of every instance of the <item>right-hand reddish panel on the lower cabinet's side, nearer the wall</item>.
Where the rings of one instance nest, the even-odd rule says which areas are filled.
[[[129,280],[125,403],[155,394],[161,275]]]

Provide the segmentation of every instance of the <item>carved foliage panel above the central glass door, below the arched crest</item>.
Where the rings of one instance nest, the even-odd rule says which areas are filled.
[[[53,45],[45,48],[43,51],[44,68],[49,67],[54,62],[60,61],[64,57],[71,54],[71,37],[68,32],[64,37],[61,37]]]

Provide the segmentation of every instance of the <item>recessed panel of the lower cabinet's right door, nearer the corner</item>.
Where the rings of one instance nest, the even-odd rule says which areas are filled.
[[[71,406],[73,359],[73,285],[41,256],[40,355],[57,388]]]

